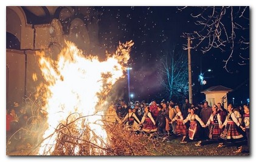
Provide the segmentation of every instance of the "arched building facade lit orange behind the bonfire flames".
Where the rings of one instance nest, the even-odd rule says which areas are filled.
[[[100,12],[94,7],[7,6],[7,108],[13,102],[24,103],[42,82],[36,51],[47,51],[52,59],[57,59],[69,40],[85,54],[99,52],[99,17]]]

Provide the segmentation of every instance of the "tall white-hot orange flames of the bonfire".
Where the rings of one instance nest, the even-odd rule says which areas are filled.
[[[103,62],[95,56],[83,56],[71,42],[66,42],[57,61],[46,57],[44,52],[37,53],[45,80],[37,88],[38,96],[43,92],[43,110],[47,112],[48,124],[39,155],[51,155],[56,149],[62,149],[66,154],[65,147],[57,146],[58,137],[65,133],[63,130],[75,139],[75,144],[71,144],[74,154],[80,152],[79,143],[83,140],[92,143],[88,146],[90,155],[104,154],[102,148],[107,144],[107,134],[102,116],[106,110],[106,97],[112,85],[124,77],[132,45],[132,41],[119,44],[116,53],[108,54]],[[67,128],[75,132],[67,131]]]

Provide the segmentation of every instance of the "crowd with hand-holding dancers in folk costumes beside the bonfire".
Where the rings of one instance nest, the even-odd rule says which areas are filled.
[[[229,103],[224,108],[221,103],[210,107],[207,101],[193,105],[188,99],[182,106],[172,100],[159,104],[155,100],[150,104],[120,100],[109,106],[105,120],[126,125],[137,133],[156,132],[162,138],[181,136],[181,143],[198,141],[197,147],[210,143],[218,143],[218,148],[235,145],[234,153],[240,153],[247,140],[249,149],[249,105],[234,108]]]

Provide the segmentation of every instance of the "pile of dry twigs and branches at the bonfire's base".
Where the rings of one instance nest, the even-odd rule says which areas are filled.
[[[152,155],[151,148],[147,147],[151,144],[151,140],[146,135],[137,135],[122,125],[105,125],[105,128],[108,132],[108,143],[102,147],[92,143],[95,139],[91,139],[92,130],[89,126],[77,130],[72,123],[61,124],[55,132],[56,146],[50,155]],[[95,132],[92,134],[94,134],[92,138],[105,142]]]

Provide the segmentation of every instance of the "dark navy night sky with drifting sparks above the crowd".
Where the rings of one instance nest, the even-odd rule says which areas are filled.
[[[131,93],[134,93],[134,100],[150,102],[153,99],[158,101],[166,99],[165,89],[159,84],[159,76],[157,76],[157,66],[161,63],[159,57],[170,45],[176,45],[182,51],[182,46],[187,44],[187,39],[182,37],[182,33],[191,33],[200,29],[198,25],[195,25],[195,19],[190,16],[192,13],[199,13],[201,11],[199,8],[188,7],[182,11],[178,8],[182,7],[95,8],[102,12],[99,20],[99,39],[105,50],[114,52],[119,41],[134,41],[130,53],[130,66],[133,68],[130,71],[130,89]],[[249,31],[246,32],[239,33],[238,31],[237,33],[249,38]],[[187,50],[182,52],[187,54]],[[191,51],[193,101],[204,100],[204,95],[200,91],[216,85],[235,90],[229,93],[229,99],[234,97],[237,102],[243,100],[244,103],[249,98],[249,63],[238,66],[240,52],[235,50],[234,57],[230,59],[228,66],[232,73],[227,73],[223,68],[223,60],[227,59],[228,53],[221,53],[218,49],[210,50],[205,54],[202,54],[199,48]],[[249,54],[249,51],[247,53]],[[206,78],[207,84],[200,85],[198,76],[208,69],[213,71],[204,74],[208,77]],[[126,82],[123,80],[123,91],[127,89]],[[128,92],[125,92],[125,99],[128,99],[127,94]]]

